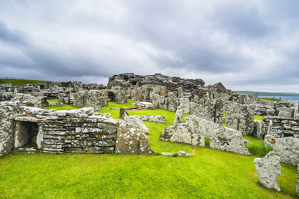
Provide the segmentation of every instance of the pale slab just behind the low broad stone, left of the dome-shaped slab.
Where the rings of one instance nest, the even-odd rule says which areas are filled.
[[[218,124],[208,121],[195,115],[189,115],[184,118],[187,124],[193,124],[194,132],[198,135],[204,135],[207,138],[210,138],[215,129],[218,129]]]

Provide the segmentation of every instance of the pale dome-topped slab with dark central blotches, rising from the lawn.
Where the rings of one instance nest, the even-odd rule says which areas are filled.
[[[242,133],[228,127],[214,130],[210,139],[210,147],[212,149],[250,155],[243,141]]]

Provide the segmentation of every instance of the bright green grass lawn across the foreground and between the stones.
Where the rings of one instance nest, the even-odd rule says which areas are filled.
[[[130,101],[131,102],[131,101]],[[129,102],[129,103],[130,103]],[[131,107],[129,103],[106,107]],[[60,106],[65,106],[60,105]],[[48,107],[60,109],[60,106]],[[58,107],[58,108],[57,108]],[[65,107],[73,109],[74,107]],[[76,108],[76,107],[75,107]],[[118,118],[118,109],[102,109]],[[167,123],[144,122],[156,152],[192,153],[192,158],[161,155],[16,154],[0,157],[0,198],[295,198],[297,168],[281,163],[281,192],[259,185],[258,154],[245,156],[189,144],[158,141],[173,124],[175,112],[129,111],[163,115]],[[187,114],[185,115],[187,116]],[[263,141],[244,136],[258,146]],[[257,147],[259,148],[259,147]],[[255,152],[256,149],[250,149]],[[264,154],[262,154],[264,155]]]

